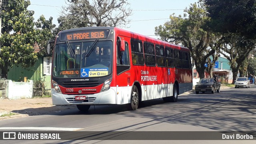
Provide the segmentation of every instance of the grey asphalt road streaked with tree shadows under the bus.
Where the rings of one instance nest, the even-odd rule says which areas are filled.
[[[256,85],[251,88],[226,88],[220,93],[182,94],[176,103],[149,100],[136,111],[126,106],[91,106],[84,114],[77,109],[42,116],[2,120],[0,131],[242,131],[256,130]],[[190,133],[191,134],[191,133]],[[254,133],[255,134],[255,133]],[[152,138],[154,139],[154,138]],[[184,134],[184,139],[186,135]],[[161,140],[160,143],[255,143],[254,140]],[[4,143],[138,143],[131,140],[0,141]],[[159,143],[140,140],[140,143]]]

